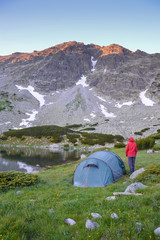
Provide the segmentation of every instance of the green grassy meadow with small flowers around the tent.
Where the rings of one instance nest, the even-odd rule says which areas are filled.
[[[128,170],[125,149],[112,151],[122,157]],[[136,169],[158,162],[159,153],[139,151]],[[131,183],[129,176],[104,188],[76,188],[72,180],[77,164],[40,172],[41,183],[37,186],[0,193],[0,239],[158,239],[153,231],[160,227],[160,184],[145,182],[148,188],[140,191],[143,196],[119,196],[115,201],[107,201],[105,198],[113,192],[125,190]],[[22,193],[17,195],[17,190]],[[92,212],[101,214],[102,218],[93,219]],[[113,212],[119,219],[110,217]],[[77,224],[67,225],[66,218],[74,219]],[[86,230],[87,219],[98,222],[100,227]],[[143,224],[141,229],[137,222]]]

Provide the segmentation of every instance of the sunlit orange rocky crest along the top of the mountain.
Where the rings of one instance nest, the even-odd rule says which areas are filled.
[[[21,61],[26,62],[26,61],[33,60],[34,58],[47,57],[49,55],[54,55],[59,52],[63,52],[66,54],[89,53],[90,55],[92,55],[92,53],[95,53],[96,56],[101,56],[101,57],[109,54],[127,55],[130,53],[133,53],[130,50],[123,48],[122,46],[117,44],[111,44],[109,46],[100,47],[99,45],[95,45],[95,44],[85,45],[82,42],[70,41],[70,42],[64,42],[64,43],[55,45],[53,47],[47,48],[42,51],[33,51],[32,53],[15,52],[11,55],[0,56],[0,63],[6,62],[6,61],[10,62],[11,64],[16,62],[21,62]]]

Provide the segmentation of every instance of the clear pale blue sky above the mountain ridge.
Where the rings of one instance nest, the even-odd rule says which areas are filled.
[[[0,0],[0,55],[68,41],[160,53],[160,0]]]

